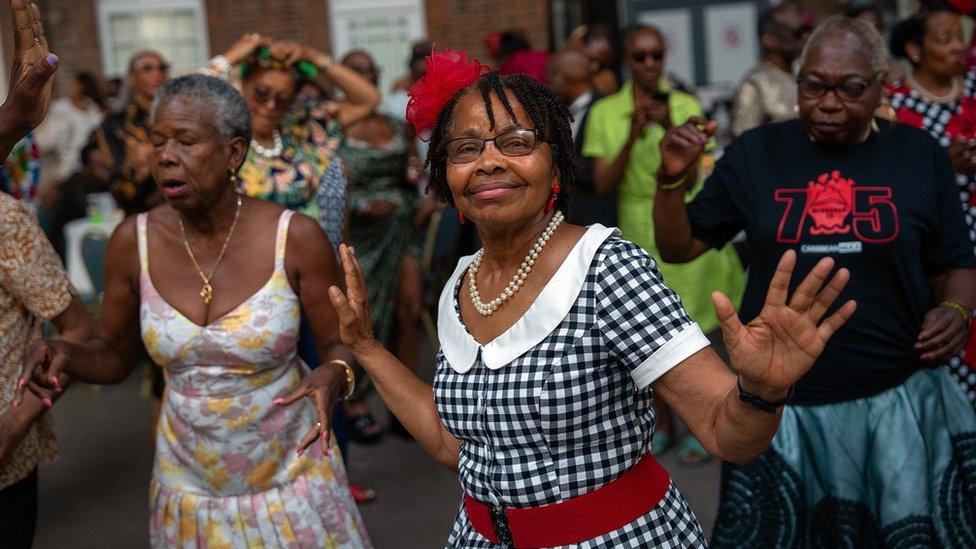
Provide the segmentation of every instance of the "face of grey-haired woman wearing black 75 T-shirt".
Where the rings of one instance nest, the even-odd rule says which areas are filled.
[[[811,45],[800,69],[800,125],[818,143],[843,146],[867,133],[881,101],[881,82],[865,57],[865,44],[850,32],[824,36]],[[833,86],[822,95],[804,89]],[[852,93],[863,87],[859,97]],[[845,93],[846,92],[846,93]]]

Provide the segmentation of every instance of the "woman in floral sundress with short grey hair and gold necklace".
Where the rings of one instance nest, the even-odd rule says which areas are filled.
[[[191,75],[156,101],[166,204],[113,235],[97,337],[42,343],[27,370],[42,385],[62,366],[117,382],[141,335],[167,377],[154,547],[367,547],[328,431],[354,385],[325,291],[338,279],[329,240],[311,218],[235,192],[250,123],[229,84]],[[296,354],[303,311],[324,363],[312,372]]]

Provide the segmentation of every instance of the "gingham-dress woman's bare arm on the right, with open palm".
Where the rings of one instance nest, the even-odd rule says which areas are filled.
[[[740,387],[767,403],[785,400],[827,340],[854,314],[855,303],[849,301],[824,318],[850,280],[846,269],[830,277],[834,262],[822,259],[788,296],[795,264],[796,253],[786,252],[762,312],[747,325],[739,321],[726,296],[712,294],[731,366],[706,347],[652,384],[702,445],[725,461],[743,463],[758,456],[782,417],[781,407],[765,411],[745,403]]]

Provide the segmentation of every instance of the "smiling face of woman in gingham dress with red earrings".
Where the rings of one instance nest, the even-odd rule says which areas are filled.
[[[509,103],[515,119],[491,94],[495,126],[477,91],[468,92],[454,107],[448,140],[459,137],[490,139],[516,129],[535,129],[525,108],[511,92]],[[505,156],[494,142],[486,143],[475,160],[455,164],[447,162],[447,184],[454,204],[465,217],[484,226],[519,226],[542,215],[552,186],[558,181],[549,144],[537,140],[535,148],[524,156]]]

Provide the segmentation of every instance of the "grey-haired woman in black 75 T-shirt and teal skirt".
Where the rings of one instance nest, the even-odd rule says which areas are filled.
[[[976,546],[976,417],[948,371],[931,368],[962,349],[976,307],[952,166],[924,132],[872,122],[885,67],[873,28],[829,20],[801,67],[799,119],[744,134],[687,207],[683,174],[714,125],[694,120],[661,143],[665,260],[745,230],[743,321],[788,249],[801,272],[825,256],[848,268],[838,302],[858,302],[770,448],[725,466],[713,546]]]

